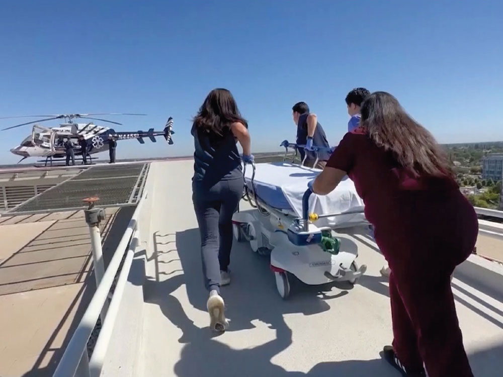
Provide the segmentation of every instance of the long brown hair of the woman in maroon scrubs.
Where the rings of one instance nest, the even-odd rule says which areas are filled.
[[[389,93],[372,93],[363,102],[361,114],[361,126],[370,139],[391,151],[404,168],[418,175],[454,177],[451,164],[433,135]]]

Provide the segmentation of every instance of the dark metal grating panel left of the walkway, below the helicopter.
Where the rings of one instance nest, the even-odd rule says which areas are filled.
[[[100,207],[135,205],[147,171],[148,164],[91,167],[7,213],[22,215],[77,210],[85,208],[82,199],[88,197],[100,198]]]

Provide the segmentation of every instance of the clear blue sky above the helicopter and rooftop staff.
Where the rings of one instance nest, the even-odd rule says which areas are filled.
[[[305,101],[336,145],[344,98],[386,90],[440,142],[503,140],[503,2],[26,1],[0,12],[0,116],[142,112],[175,145],[124,141],[118,157],[187,155],[208,91],[233,92],[255,151],[294,140]],[[0,126],[16,120],[0,120]],[[119,129],[119,128],[118,128]],[[30,126],[0,134],[0,163]]]

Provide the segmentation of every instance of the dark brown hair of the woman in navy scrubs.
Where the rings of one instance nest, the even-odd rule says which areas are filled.
[[[194,117],[194,125],[197,128],[211,130],[218,135],[223,135],[224,130],[229,129],[230,125],[235,122],[240,122],[248,128],[231,92],[223,88],[210,91]]]

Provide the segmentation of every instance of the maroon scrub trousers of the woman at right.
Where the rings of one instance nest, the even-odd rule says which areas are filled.
[[[428,196],[410,194],[415,201],[399,204],[396,222],[375,227],[391,268],[393,348],[407,370],[420,370],[424,362],[430,377],[473,377],[450,280],[473,250],[477,217],[461,193],[435,202]]]

